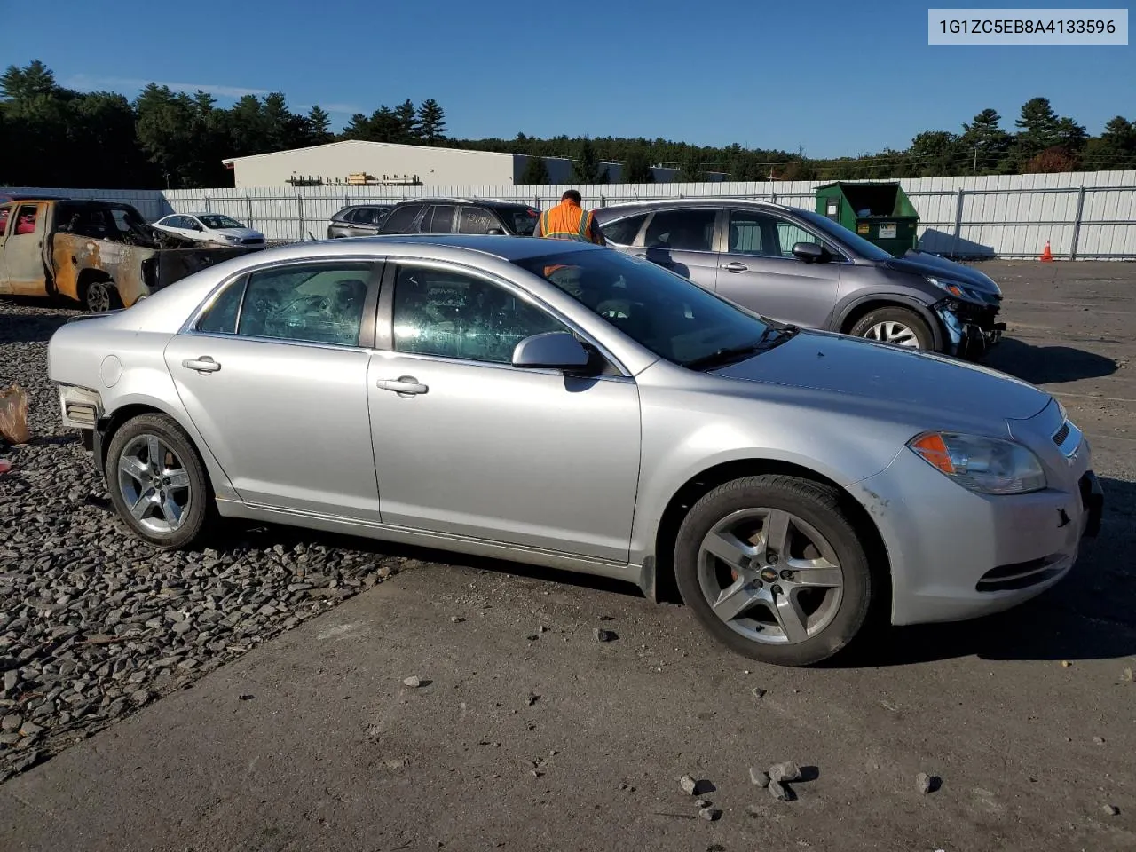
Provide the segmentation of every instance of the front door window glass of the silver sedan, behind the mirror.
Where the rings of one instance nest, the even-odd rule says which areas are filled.
[[[394,350],[511,364],[525,337],[567,331],[540,308],[484,278],[401,266],[394,284]]]

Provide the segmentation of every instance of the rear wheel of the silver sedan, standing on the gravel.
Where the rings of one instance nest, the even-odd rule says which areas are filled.
[[[152,442],[165,477],[156,478],[149,465]],[[193,442],[172,418],[140,415],[123,424],[107,448],[106,470],[115,510],[139,538],[161,550],[182,550],[201,537],[212,492]],[[162,496],[165,501],[156,502]]]

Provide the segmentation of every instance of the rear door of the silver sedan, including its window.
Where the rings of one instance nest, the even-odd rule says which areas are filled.
[[[379,520],[359,345],[376,299],[371,261],[281,262],[231,282],[167,345],[182,403],[245,502]]]

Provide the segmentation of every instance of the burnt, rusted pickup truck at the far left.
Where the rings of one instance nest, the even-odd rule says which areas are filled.
[[[132,206],[78,199],[0,203],[0,294],[74,299],[91,311],[128,308],[248,248],[186,248]]]

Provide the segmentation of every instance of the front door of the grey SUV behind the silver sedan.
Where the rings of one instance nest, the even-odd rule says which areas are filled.
[[[718,293],[784,323],[822,327],[836,304],[840,264],[804,262],[793,256],[793,247],[799,242],[827,245],[825,240],[766,210],[737,208],[727,216]]]

